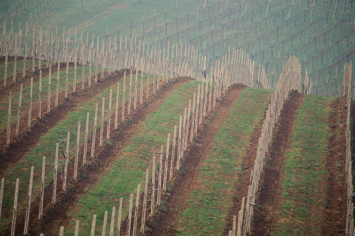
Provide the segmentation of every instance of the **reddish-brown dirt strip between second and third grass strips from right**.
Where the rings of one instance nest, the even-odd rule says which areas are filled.
[[[175,175],[172,180],[171,191],[162,197],[164,211],[159,211],[156,217],[150,217],[147,225],[151,228],[148,236],[173,236],[176,216],[186,208],[185,201],[189,194],[198,187],[198,170],[205,159],[206,150],[213,144],[215,133],[220,129],[228,117],[233,102],[236,101],[244,86],[235,85],[219,101],[214,114],[210,114],[197,134],[195,142],[188,148],[181,163],[182,174]],[[213,116],[212,116],[213,115]],[[208,123],[208,125],[206,125]],[[168,197],[169,196],[169,197]]]

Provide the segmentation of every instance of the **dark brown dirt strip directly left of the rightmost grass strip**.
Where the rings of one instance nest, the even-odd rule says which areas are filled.
[[[287,140],[292,132],[297,111],[302,103],[303,96],[293,92],[284,104],[282,113],[276,124],[276,131],[272,134],[269,152],[265,157],[264,174],[260,180],[263,185],[255,200],[261,207],[254,209],[255,212],[251,227],[253,236],[265,236],[273,227],[275,214],[280,206],[277,190],[279,189],[279,184],[282,182],[280,174],[284,162]]]

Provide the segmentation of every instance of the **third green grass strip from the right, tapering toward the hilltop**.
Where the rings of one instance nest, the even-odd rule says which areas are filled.
[[[70,222],[72,226],[67,230],[68,235],[73,233],[71,231],[74,229],[75,220],[80,222],[80,234],[88,235],[94,214],[97,215],[96,233],[101,232],[104,211],[110,212],[113,206],[118,211],[121,197],[123,198],[122,218],[126,217],[129,195],[132,193],[135,195],[138,184],[144,185],[144,173],[151,167],[153,153],[158,152],[161,145],[166,145],[167,134],[173,134],[174,126],[178,125],[179,115],[188,105],[193,92],[197,91],[197,85],[197,81],[191,81],[176,89],[140,124],[141,129],[136,131],[130,143],[117,154],[117,161],[102,174],[102,178],[85,195],[81,196],[77,207],[68,213],[72,219]],[[170,142],[172,143],[172,137]]]

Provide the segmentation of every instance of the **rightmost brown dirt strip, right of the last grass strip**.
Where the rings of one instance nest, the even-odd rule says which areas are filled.
[[[341,97],[331,104],[329,124],[331,135],[328,138],[326,169],[326,206],[322,224],[323,236],[344,235],[346,222],[346,183],[345,173],[345,123],[346,98]]]

